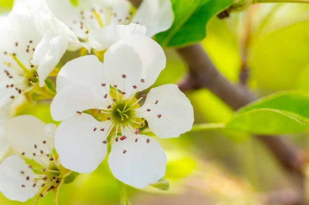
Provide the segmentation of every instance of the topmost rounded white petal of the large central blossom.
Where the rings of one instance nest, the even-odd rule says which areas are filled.
[[[159,44],[145,35],[135,34],[117,41],[106,51],[104,76],[111,85],[131,94],[153,85],[165,62]]]

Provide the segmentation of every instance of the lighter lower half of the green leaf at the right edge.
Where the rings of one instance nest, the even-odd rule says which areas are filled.
[[[300,133],[309,131],[309,119],[288,111],[262,108],[237,114],[225,128],[252,134]]]

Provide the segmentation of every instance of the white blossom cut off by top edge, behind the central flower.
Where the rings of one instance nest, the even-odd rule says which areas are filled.
[[[45,1],[49,12],[70,27],[87,49],[89,42],[97,51],[130,34],[153,36],[174,21],[170,0],[143,0],[135,14],[129,0],[78,0],[77,5],[70,0]]]

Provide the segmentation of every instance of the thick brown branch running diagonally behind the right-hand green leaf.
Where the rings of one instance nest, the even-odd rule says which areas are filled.
[[[207,88],[220,97],[224,102],[237,110],[254,100],[254,97],[244,87],[233,86],[214,66],[200,44],[191,45],[177,50],[189,67],[189,74],[179,83],[182,91]],[[295,149],[279,136],[257,135],[258,139],[267,146],[282,167],[297,181],[301,190],[302,205],[306,205],[302,168],[307,161],[305,154]]]

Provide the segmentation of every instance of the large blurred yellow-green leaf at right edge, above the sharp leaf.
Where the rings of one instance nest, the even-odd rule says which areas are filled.
[[[295,23],[254,42],[249,65],[260,89],[273,92],[298,87],[300,73],[309,63],[308,27],[309,21]]]

